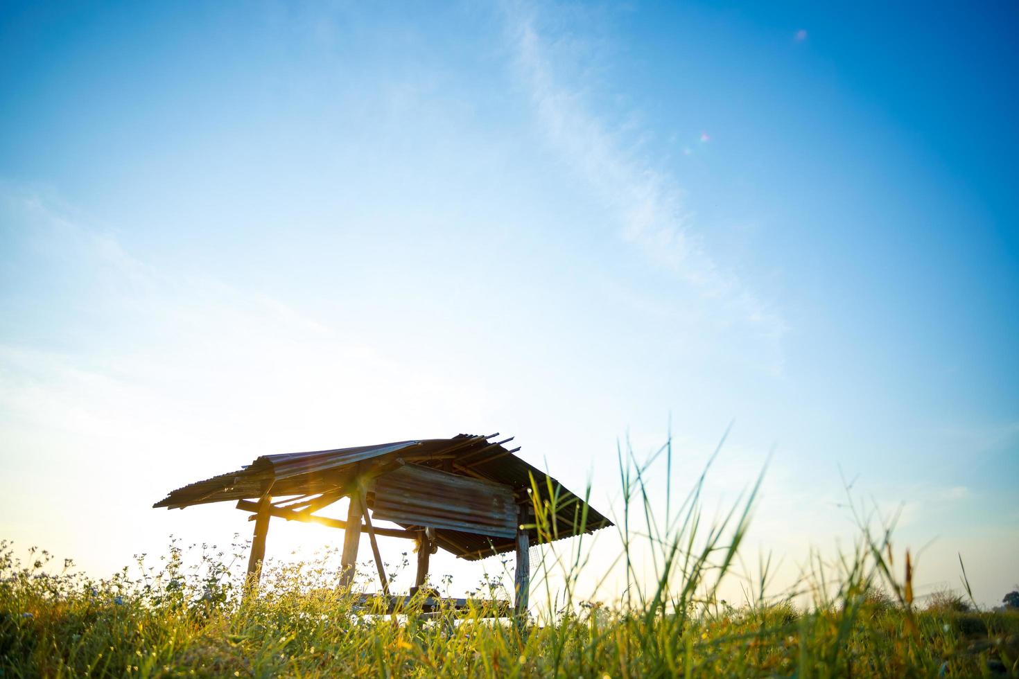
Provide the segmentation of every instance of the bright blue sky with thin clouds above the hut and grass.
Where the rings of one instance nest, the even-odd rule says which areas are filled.
[[[841,468],[930,587],[1019,580],[1014,3],[0,17],[19,544],[112,570],[246,529],[169,488],[460,432],[611,509],[671,415],[681,487],[735,421],[712,502],[773,449],[790,564],[848,534]]]

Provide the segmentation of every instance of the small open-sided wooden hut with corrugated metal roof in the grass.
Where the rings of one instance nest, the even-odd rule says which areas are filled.
[[[425,584],[429,556],[437,549],[472,561],[516,552],[514,609],[522,613],[527,610],[530,545],[593,532],[612,523],[554,478],[517,457],[520,448],[505,447],[512,437],[492,442],[497,436],[461,434],[451,439],[263,455],[237,471],[172,491],[153,506],[183,509],[235,501],[237,509],[250,512],[249,520],[255,521],[248,562],[249,577],[255,581],[265,558],[272,517],[342,528],[338,584],[346,587],[354,579],[361,534],[366,532],[390,610],[407,600],[390,596],[378,536],[417,543],[412,596]],[[346,520],[315,513],[342,498],[350,498]],[[551,524],[540,535],[535,508]],[[466,606],[462,600],[429,598],[425,602],[433,608],[450,604]]]

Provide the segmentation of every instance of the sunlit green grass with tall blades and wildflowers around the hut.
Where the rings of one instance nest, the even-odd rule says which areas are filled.
[[[646,479],[662,463],[672,467],[671,446],[645,463],[620,454],[612,568],[590,536],[546,545],[527,620],[481,617],[485,599],[512,598],[498,578],[467,614],[412,605],[393,619],[335,589],[327,559],[269,564],[257,596],[244,597],[243,553],[190,559],[173,543],[159,566],[140,559],[94,580],[45,552],[22,564],[0,543],[0,676],[1019,676],[1019,613],[980,612],[950,592],[914,601],[891,526],[872,530],[858,513],[851,553],[813,559],[775,595],[767,559],[753,582],[735,569],[756,487],[707,523],[702,476],[675,507],[666,489],[668,509],[656,514]],[[546,539],[554,504],[535,507]],[[580,600],[613,571],[628,584],[622,597]],[[730,581],[745,591],[740,606],[718,599]]]

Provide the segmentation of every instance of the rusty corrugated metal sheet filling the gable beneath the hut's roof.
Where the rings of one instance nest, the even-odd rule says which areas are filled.
[[[513,489],[504,484],[418,464],[375,479],[374,516],[401,525],[513,537],[517,513]]]

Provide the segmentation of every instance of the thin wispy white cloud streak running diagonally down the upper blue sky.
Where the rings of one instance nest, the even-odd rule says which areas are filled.
[[[646,136],[636,123],[611,124],[597,115],[585,96],[590,83],[557,66],[561,53],[576,47],[569,35],[543,33],[535,7],[511,5],[508,35],[520,78],[529,93],[543,132],[571,167],[604,201],[619,234],[648,260],[674,272],[702,299],[710,300],[726,324],[739,322],[766,342],[781,370],[783,317],[706,250],[692,215],[684,209],[676,178],[655,166],[639,144]],[[702,144],[710,140],[701,132]]]

